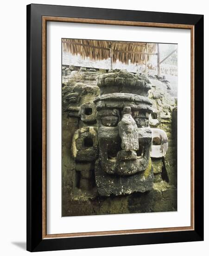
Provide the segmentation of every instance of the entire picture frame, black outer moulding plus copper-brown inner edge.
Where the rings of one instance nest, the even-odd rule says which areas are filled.
[[[47,234],[47,22],[190,30],[190,226]],[[27,250],[203,241],[203,34],[204,16],[199,14],[39,4],[27,6]]]

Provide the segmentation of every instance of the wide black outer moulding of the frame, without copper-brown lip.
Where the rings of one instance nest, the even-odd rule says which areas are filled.
[[[194,26],[194,230],[43,238],[42,17]],[[153,27],[155,27],[153,25]],[[27,250],[99,248],[203,240],[203,15],[31,4],[27,6]]]

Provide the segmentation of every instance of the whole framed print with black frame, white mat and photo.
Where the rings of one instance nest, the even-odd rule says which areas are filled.
[[[27,6],[27,250],[203,240],[203,15]]]

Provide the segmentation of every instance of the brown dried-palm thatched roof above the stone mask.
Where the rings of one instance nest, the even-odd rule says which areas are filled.
[[[73,55],[80,54],[83,59],[89,57],[90,60],[106,60],[112,54],[113,62],[119,60],[126,64],[128,64],[128,60],[131,63],[143,64],[146,56],[149,61],[151,54],[156,52],[155,43],[83,39],[63,39],[62,43],[64,52]]]

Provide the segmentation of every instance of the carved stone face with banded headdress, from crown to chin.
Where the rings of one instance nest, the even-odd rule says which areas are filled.
[[[127,71],[101,75],[98,86],[101,95],[94,102],[102,170],[109,175],[145,171],[152,144],[150,86]]]

